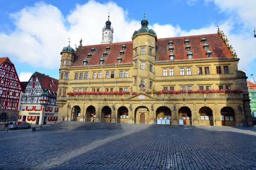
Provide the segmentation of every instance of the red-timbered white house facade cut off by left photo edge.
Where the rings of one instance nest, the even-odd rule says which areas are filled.
[[[23,91],[14,64],[8,57],[0,58],[0,121],[15,119]]]

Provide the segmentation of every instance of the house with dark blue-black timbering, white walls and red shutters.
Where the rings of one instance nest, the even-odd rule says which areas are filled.
[[[56,105],[58,79],[35,72],[21,97],[18,119],[32,124],[52,124],[58,120]]]

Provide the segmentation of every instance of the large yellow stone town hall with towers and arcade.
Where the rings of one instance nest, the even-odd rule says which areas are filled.
[[[131,36],[112,43],[108,19],[101,44],[63,48],[56,101],[62,120],[90,122],[95,114],[96,122],[252,125],[247,77],[219,29],[157,39],[144,17]]]

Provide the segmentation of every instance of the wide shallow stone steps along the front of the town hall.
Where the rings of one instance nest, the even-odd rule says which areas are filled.
[[[98,123],[98,122],[73,122],[64,121],[52,125],[42,125],[37,130],[100,130],[100,129],[123,129],[123,130],[143,130],[148,128],[170,128],[170,125],[145,125],[126,123]]]

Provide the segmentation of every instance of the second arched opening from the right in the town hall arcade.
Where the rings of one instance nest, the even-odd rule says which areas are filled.
[[[211,126],[214,125],[211,108],[204,106],[199,109],[199,114],[200,114],[200,125],[211,125]]]

